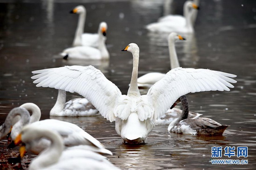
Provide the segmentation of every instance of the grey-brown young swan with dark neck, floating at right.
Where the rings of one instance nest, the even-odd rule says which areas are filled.
[[[185,95],[179,97],[176,103],[182,102],[182,115],[168,126],[168,131],[192,135],[222,135],[229,126],[221,125],[209,118],[189,118],[189,102]],[[175,106],[175,105],[174,105]]]

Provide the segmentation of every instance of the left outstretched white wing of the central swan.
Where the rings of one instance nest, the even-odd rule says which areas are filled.
[[[32,73],[38,74],[31,77],[36,79],[36,87],[76,92],[87,98],[104,118],[111,122],[115,120],[113,110],[121,91],[93,66],[65,66],[36,70]]]

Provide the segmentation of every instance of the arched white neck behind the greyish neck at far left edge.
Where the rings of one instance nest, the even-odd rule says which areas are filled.
[[[34,104],[34,103],[25,103],[25,104],[21,105],[20,107],[24,107],[28,111],[32,112],[32,115],[30,116],[29,123],[33,123],[35,121],[40,120],[41,110],[36,104]]]

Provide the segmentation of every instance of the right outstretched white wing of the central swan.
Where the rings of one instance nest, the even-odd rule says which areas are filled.
[[[179,67],[170,70],[148,90],[148,100],[155,108],[154,120],[161,117],[184,94],[201,91],[229,91],[229,88],[234,88],[230,82],[236,83],[229,77],[236,77],[236,75],[209,69]]]

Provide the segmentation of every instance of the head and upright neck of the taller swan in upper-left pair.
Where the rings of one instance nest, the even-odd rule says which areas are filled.
[[[84,31],[84,23],[86,19],[86,9],[84,6],[76,6],[70,13],[78,13],[78,23],[75,31],[73,46],[81,46],[82,45],[82,33]]]

